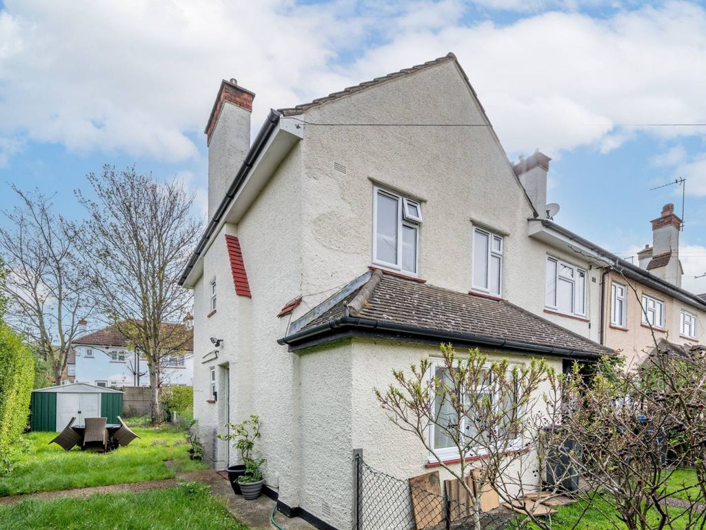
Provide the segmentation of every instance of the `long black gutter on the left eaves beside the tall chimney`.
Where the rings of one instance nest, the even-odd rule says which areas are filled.
[[[255,160],[258,159],[258,156],[260,156],[260,153],[262,153],[263,148],[265,148],[265,143],[268,142],[270,136],[272,136],[273,134],[273,131],[277,128],[277,124],[280,122],[281,116],[281,112],[274,109],[270,109],[270,114],[268,114],[267,119],[265,119],[265,123],[258,132],[258,136],[256,136],[255,141],[253,141],[253,144],[250,146],[248,153],[245,155],[245,160],[243,160],[243,163],[241,164],[240,169],[235,175],[233,182],[230,184],[228,191],[223,197],[220,206],[218,206],[218,209],[213,214],[213,219],[211,219],[208,223],[206,230],[201,236],[201,240],[199,240],[198,245],[196,245],[196,250],[194,250],[193,254],[191,254],[191,258],[189,258],[189,263],[186,265],[186,269],[184,269],[184,272],[181,273],[181,278],[179,278],[179,285],[184,285],[186,277],[189,276],[189,273],[191,273],[193,266],[196,265],[198,257],[201,255],[201,252],[203,252],[203,249],[208,244],[208,240],[210,240],[211,236],[213,235],[213,232],[215,232],[216,228],[218,227],[218,224],[225,215],[230,202],[232,201],[235,194],[237,194],[240,187],[243,185],[243,182],[245,182],[246,177],[249,175],[250,170],[253,168]]]

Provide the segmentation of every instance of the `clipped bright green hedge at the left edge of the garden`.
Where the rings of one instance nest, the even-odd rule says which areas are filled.
[[[29,414],[35,362],[30,348],[0,322],[0,475],[11,471]]]

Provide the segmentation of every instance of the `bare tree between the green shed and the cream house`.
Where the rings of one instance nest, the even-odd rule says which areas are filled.
[[[102,313],[147,361],[151,416],[158,422],[162,360],[183,352],[191,338],[182,323],[191,294],[178,280],[199,232],[193,196],[176,180],[157,182],[134,167],[105,166],[88,180],[97,199],[77,192],[89,218],[81,235],[88,250],[83,266]]]

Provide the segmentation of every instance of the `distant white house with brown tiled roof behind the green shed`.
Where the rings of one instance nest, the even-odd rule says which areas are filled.
[[[193,346],[164,358],[160,367],[163,385],[190,386],[193,383]],[[77,383],[98,387],[149,387],[147,360],[131,348],[125,336],[113,326],[85,334],[73,343],[74,363],[68,375]]]

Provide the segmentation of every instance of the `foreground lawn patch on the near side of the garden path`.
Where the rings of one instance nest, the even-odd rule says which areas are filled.
[[[25,500],[0,506],[3,530],[247,530],[199,483],[83,499]]]

